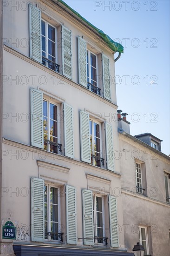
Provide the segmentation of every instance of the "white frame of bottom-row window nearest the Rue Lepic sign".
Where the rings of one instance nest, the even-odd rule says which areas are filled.
[[[45,186],[47,186],[47,231],[48,232],[51,232],[51,209],[50,209],[50,206],[51,206],[51,201],[50,201],[50,188],[56,188],[58,189],[58,233],[60,233],[60,227],[61,227],[61,214],[60,214],[60,209],[61,209],[61,204],[60,204],[60,187],[59,186],[56,186],[55,184],[53,184],[52,182],[45,182],[44,184]],[[50,202],[50,203],[49,203]],[[45,202],[46,204],[46,202]],[[45,205],[44,204],[44,205]],[[45,206],[44,206],[45,207]],[[44,221],[44,225],[45,225],[45,221]],[[50,242],[60,242],[60,238],[58,240],[54,240],[54,239],[51,239],[51,236],[48,236],[47,239],[45,239],[45,241],[50,241]]]

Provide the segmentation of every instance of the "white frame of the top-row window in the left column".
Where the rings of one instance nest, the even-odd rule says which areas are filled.
[[[58,54],[57,54],[57,28],[54,27],[51,23],[49,23],[47,20],[44,20],[44,19],[41,19],[41,20],[43,20],[46,24],[45,25],[45,30],[46,30],[46,57],[45,58],[47,58],[47,59],[49,59],[48,58],[48,25],[50,25],[51,27],[53,27],[55,29],[55,63],[57,63],[57,60],[58,60],[57,59],[57,57],[58,57]],[[41,30],[41,38],[42,38],[42,30]],[[41,48],[41,54],[42,54],[42,48]],[[52,56],[52,57],[54,57],[54,56]],[[46,67],[48,67],[47,62],[46,62]]]

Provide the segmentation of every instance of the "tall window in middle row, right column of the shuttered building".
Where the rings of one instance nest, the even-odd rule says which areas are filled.
[[[90,146],[91,146],[91,163],[101,167],[100,154],[100,125],[90,120]]]

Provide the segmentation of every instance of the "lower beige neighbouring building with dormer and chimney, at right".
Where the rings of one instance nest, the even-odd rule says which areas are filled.
[[[136,239],[144,255],[168,256],[170,157],[160,151],[157,137],[130,135],[126,118],[118,119],[118,126],[125,247],[131,251]]]

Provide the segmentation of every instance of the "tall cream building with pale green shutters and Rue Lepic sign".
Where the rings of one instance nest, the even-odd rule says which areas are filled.
[[[113,193],[123,47],[61,0],[1,1],[0,24],[0,255],[132,256]]]

